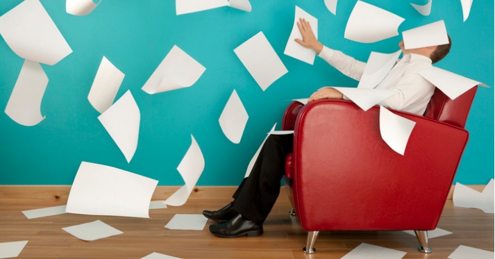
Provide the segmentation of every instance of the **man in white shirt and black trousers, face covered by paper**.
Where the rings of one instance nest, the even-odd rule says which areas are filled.
[[[316,39],[309,22],[305,19],[299,19],[297,25],[303,39],[296,39],[296,42],[316,51],[319,57],[343,74],[360,80],[366,63],[325,47]],[[375,87],[396,89],[398,93],[380,104],[395,110],[422,115],[435,91],[435,86],[418,72],[446,56],[451,48],[450,37],[448,44],[440,46],[404,49],[401,41],[399,47],[403,51],[403,58],[398,60],[383,81]],[[338,90],[324,87],[314,92],[308,101],[319,99],[346,99],[346,97]],[[262,224],[280,193],[285,156],[292,152],[293,138],[293,135],[270,135],[260,151],[251,174],[244,178],[233,195],[234,201],[220,210],[203,211],[203,215],[208,219],[223,223],[210,225],[212,234],[219,237],[262,235]]]

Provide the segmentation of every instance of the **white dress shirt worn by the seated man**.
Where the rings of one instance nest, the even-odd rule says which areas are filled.
[[[342,51],[336,51],[325,46],[318,56],[342,74],[357,81],[360,81],[366,66],[365,62],[355,60]],[[435,92],[435,85],[420,76],[418,72],[431,66],[430,58],[417,54],[408,54],[398,60],[387,76],[383,78],[383,81],[375,87],[376,89],[396,89],[398,93],[380,102],[380,105],[394,110],[423,115],[433,92]]]

